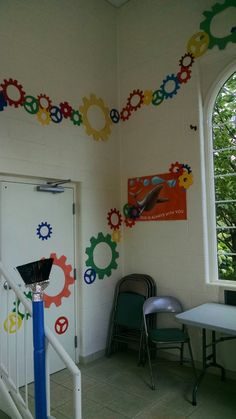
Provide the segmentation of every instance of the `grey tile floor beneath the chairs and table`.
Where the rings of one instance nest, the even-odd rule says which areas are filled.
[[[156,365],[155,391],[148,387],[148,367],[137,366],[135,353],[116,353],[81,365],[83,419],[235,419],[236,381],[210,374],[191,404],[192,370],[170,361]],[[158,374],[157,374],[158,369]],[[51,376],[51,406],[56,419],[73,419],[71,376]],[[29,389],[33,406],[33,386]]]

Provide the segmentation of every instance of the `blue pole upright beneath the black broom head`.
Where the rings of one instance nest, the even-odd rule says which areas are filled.
[[[34,391],[36,419],[47,419],[43,304],[43,300],[34,301],[33,294]]]

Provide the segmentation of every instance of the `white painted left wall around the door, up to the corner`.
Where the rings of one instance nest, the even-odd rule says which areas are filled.
[[[0,50],[0,83],[17,79],[27,94],[46,93],[54,104],[68,101],[75,109],[91,93],[117,107],[116,9],[105,1],[1,1]],[[92,285],[83,280],[90,238],[111,232],[107,212],[119,208],[119,155],[117,127],[111,127],[108,141],[96,142],[69,120],[42,126],[23,108],[0,112],[1,174],[78,183],[82,357],[105,347],[113,289],[121,275],[120,257],[111,277]]]

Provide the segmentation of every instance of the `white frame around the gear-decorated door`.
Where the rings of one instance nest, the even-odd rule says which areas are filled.
[[[0,174],[0,182],[14,182],[14,183],[25,183],[25,184],[46,184],[47,182],[57,182],[57,181],[61,181],[63,179],[55,179],[55,178],[42,178],[42,177],[27,177],[27,176],[23,176],[23,175],[4,175],[4,174]],[[75,336],[77,337],[77,347],[74,348],[74,353],[75,353],[75,359],[73,359],[74,362],[79,362],[79,356],[80,356],[80,345],[79,345],[79,331],[80,331],[80,327],[81,324],[78,321],[78,284],[79,284],[79,269],[77,268],[78,265],[78,260],[79,260],[79,253],[78,253],[78,246],[77,246],[77,241],[78,241],[78,211],[76,211],[76,208],[78,207],[78,192],[79,192],[79,183],[75,183],[75,182],[65,182],[65,184],[63,184],[63,186],[65,185],[65,187],[69,187],[73,190],[73,202],[75,205],[75,211],[73,213],[73,242],[74,242],[74,249],[73,249],[73,256],[74,256],[74,262],[75,262],[75,266],[73,266],[73,272],[74,269],[76,270],[76,278],[75,278],[75,290],[74,290],[74,307],[75,307],[75,312],[74,312],[74,316],[75,316]],[[40,192],[39,192],[40,193]],[[43,193],[43,192],[41,192]],[[44,192],[44,193],[49,193],[49,192]],[[2,210],[1,207],[1,202],[0,202],[0,211]],[[0,232],[1,234],[1,232]]]

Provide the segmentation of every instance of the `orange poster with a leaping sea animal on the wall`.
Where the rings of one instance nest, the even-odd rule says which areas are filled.
[[[128,204],[135,207],[136,221],[186,220],[186,187],[179,173],[128,179]]]

